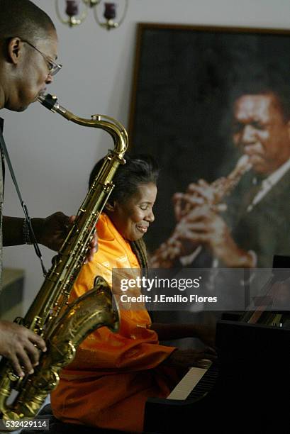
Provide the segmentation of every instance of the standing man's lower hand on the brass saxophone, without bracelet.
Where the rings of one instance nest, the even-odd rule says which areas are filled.
[[[23,325],[0,321],[0,354],[7,357],[19,377],[33,373],[45,341]]]

